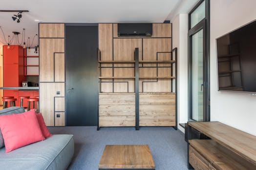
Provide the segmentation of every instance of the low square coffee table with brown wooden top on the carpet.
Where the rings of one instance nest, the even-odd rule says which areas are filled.
[[[106,145],[99,170],[155,170],[149,145]]]

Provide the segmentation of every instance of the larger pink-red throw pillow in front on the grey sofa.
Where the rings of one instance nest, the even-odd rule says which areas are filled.
[[[0,116],[0,129],[6,153],[45,139],[35,109],[21,114]]]

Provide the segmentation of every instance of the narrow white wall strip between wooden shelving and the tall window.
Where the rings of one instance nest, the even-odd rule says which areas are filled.
[[[172,21],[172,48],[177,47],[177,119],[179,123],[188,121],[188,14],[179,14]],[[184,128],[178,125],[184,132]]]

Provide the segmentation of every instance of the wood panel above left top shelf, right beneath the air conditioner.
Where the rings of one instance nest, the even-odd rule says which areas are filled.
[[[140,38],[114,39],[114,60],[134,60],[135,48],[139,48],[139,56],[142,56],[142,40]]]

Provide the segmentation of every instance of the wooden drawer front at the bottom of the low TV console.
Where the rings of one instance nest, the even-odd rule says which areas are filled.
[[[213,166],[197,151],[189,146],[189,162],[195,170],[216,170]]]

